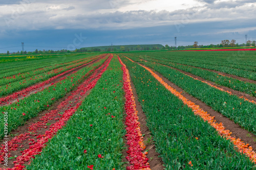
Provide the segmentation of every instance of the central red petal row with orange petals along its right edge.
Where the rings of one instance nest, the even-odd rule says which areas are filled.
[[[129,150],[126,152],[128,156],[126,159],[132,164],[127,166],[127,170],[132,169],[143,169],[150,170],[150,165],[147,162],[146,157],[147,152],[143,153],[146,146],[143,143],[143,136],[140,131],[140,123],[138,122],[139,117],[137,116],[137,109],[134,100],[134,95],[131,87],[131,80],[128,69],[126,69],[125,64],[118,57],[119,62],[122,65],[123,70],[123,87],[125,92],[125,125],[127,144],[130,146]]]

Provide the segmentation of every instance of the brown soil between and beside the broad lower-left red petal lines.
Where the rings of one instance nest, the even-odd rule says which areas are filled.
[[[103,68],[97,70],[97,75],[99,74],[99,72],[100,72],[102,69],[103,69]],[[92,72],[92,74],[94,74],[94,72]],[[91,75],[92,75],[92,74],[91,74]],[[89,77],[90,77],[90,76],[89,76]],[[89,78],[89,77],[88,77],[88,78]],[[95,76],[88,84],[90,84],[94,79],[96,79],[96,76]],[[85,79],[84,81],[86,81],[86,80],[87,80],[87,79]],[[83,81],[83,82],[84,82],[84,81]],[[83,82],[82,82],[82,83],[83,83]],[[82,83],[81,83],[81,84],[82,84]],[[80,84],[80,85],[81,85],[81,84]],[[38,116],[29,119],[29,120],[25,123],[24,126],[18,127],[18,129],[12,131],[12,132],[10,133],[10,135],[11,135],[12,137],[11,137],[10,135],[8,136],[9,141],[12,140],[15,136],[18,136],[18,135],[24,134],[24,133],[29,133],[28,128],[30,127],[30,125],[32,125],[32,124],[34,124],[34,123],[37,123],[37,122],[41,122],[40,118],[41,118],[42,116],[45,116],[46,113],[49,113],[51,110],[57,109],[58,105],[59,105],[61,102],[65,101],[70,95],[72,95],[72,93],[73,93],[74,91],[76,91],[76,90],[78,89],[78,87],[79,87],[79,85],[78,85],[77,87],[75,87],[72,91],[70,91],[69,93],[67,93],[65,96],[63,96],[63,98],[61,98],[61,99],[59,99],[58,101],[56,101],[48,110],[41,111],[40,113],[38,113]],[[58,113],[65,112],[65,111],[68,109],[68,107],[69,107],[69,108],[75,107],[77,103],[79,103],[80,101],[83,101],[83,100],[86,98],[86,96],[90,94],[91,90],[92,90],[92,89],[88,90],[88,91],[87,91],[84,95],[82,95],[81,97],[80,97],[80,93],[74,95],[74,98],[73,98],[72,100],[70,100],[69,103],[68,103],[66,106],[63,106],[63,107],[58,111]],[[80,98],[79,98],[79,97],[80,97]],[[60,115],[60,116],[61,116],[61,115]],[[35,141],[36,141],[36,140],[37,140],[37,138],[36,138],[37,136],[33,136],[33,134],[36,134],[36,135],[45,134],[45,132],[50,129],[50,126],[51,126],[50,124],[54,124],[54,123],[58,122],[58,119],[55,120],[55,118],[60,118],[60,116],[59,116],[58,114],[56,114],[51,120],[48,120],[47,123],[48,123],[49,125],[44,125],[44,127],[46,127],[46,128],[39,128],[38,130],[36,130],[35,133],[32,133],[31,135],[29,135],[29,138],[28,138],[28,139],[35,139]],[[15,155],[16,155],[16,156],[20,156],[20,155],[22,155],[22,153],[20,153],[20,151],[25,150],[25,149],[29,149],[29,147],[30,147],[29,143],[30,143],[31,141],[29,141],[28,139],[24,140],[22,143],[18,143],[18,144],[22,144],[22,145],[24,145],[24,146],[23,146],[22,148],[19,148],[19,147],[18,147],[18,149],[17,149],[16,151],[10,151],[9,153],[11,154],[11,156],[13,156],[13,157],[14,157]],[[4,143],[3,143],[3,140],[0,141],[0,144],[4,144]],[[8,168],[14,167],[13,161],[15,161],[15,160],[16,160],[15,158],[13,158],[13,159],[11,159],[11,160],[8,160]],[[29,163],[29,161],[28,161],[28,162],[25,162],[25,165],[28,165],[28,163]],[[0,168],[7,168],[7,167],[6,167],[4,164],[0,164]]]

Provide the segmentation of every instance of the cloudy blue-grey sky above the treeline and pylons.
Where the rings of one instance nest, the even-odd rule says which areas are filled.
[[[255,0],[0,0],[0,53],[256,40]]]

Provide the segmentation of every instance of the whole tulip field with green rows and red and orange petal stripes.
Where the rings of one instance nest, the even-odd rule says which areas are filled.
[[[254,51],[0,66],[0,169],[256,169]]]

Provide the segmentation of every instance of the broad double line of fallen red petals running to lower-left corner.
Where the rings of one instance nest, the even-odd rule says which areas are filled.
[[[44,128],[46,126],[46,124],[48,123],[49,120],[53,119],[54,117],[56,117],[57,115],[60,115],[61,117],[58,119],[58,122],[56,122],[55,124],[52,124],[50,126],[50,129],[48,131],[46,131],[45,134],[34,134],[31,135],[30,133],[24,133],[24,134],[20,134],[19,136],[14,137],[11,141],[9,141],[8,143],[8,147],[9,147],[9,151],[15,151],[17,150],[18,147],[23,147],[22,144],[18,144],[18,143],[22,143],[24,142],[26,139],[30,138],[30,136],[37,136],[37,140],[34,139],[29,139],[31,142],[29,149],[26,149],[24,151],[22,151],[22,155],[18,156],[16,158],[16,161],[14,161],[13,163],[15,163],[13,168],[7,168],[7,169],[23,169],[25,168],[25,166],[23,165],[25,162],[29,161],[31,158],[34,158],[35,155],[40,154],[40,152],[42,151],[42,149],[46,146],[46,142],[48,142],[49,139],[51,139],[56,132],[61,129],[63,126],[65,126],[67,120],[75,113],[75,111],[78,109],[78,107],[81,105],[80,103],[77,103],[75,107],[71,107],[68,110],[66,110],[62,115],[58,114],[59,110],[61,108],[63,108],[64,106],[68,105],[69,102],[75,98],[75,96],[77,95],[84,95],[88,90],[92,89],[97,81],[101,78],[101,75],[103,74],[103,72],[106,70],[106,68],[108,68],[109,63],[112,59],[113,55],[104,62],[104,64],[102,64],[99,68],[97,68],[94,72],[94,74],[87,79],[84,83],[82,83],[78,89],[74,92],[72,92],[72,95],[69,96],[65,101],[61,102],[56,110],[52,110],[49,113],[47,113],[45,116],[43,116],[42,118],[40,118],[40,121],[32,124],[29,127],[29,132],[33,132],[36,133],[36,131],[39,128]],[[98,73],[98,71],[100,71]],[[81,97],[79,96],[79,99]],[[79,100],[78,98],[76,98],[76,102]],[[2,145],[3,148],[1,148],[1,156],[0,159],[1,161],[4,160],[4,145]],[[11,155],[9,155],[10,157]],[[1,170],[1,168],[0,168]]]

